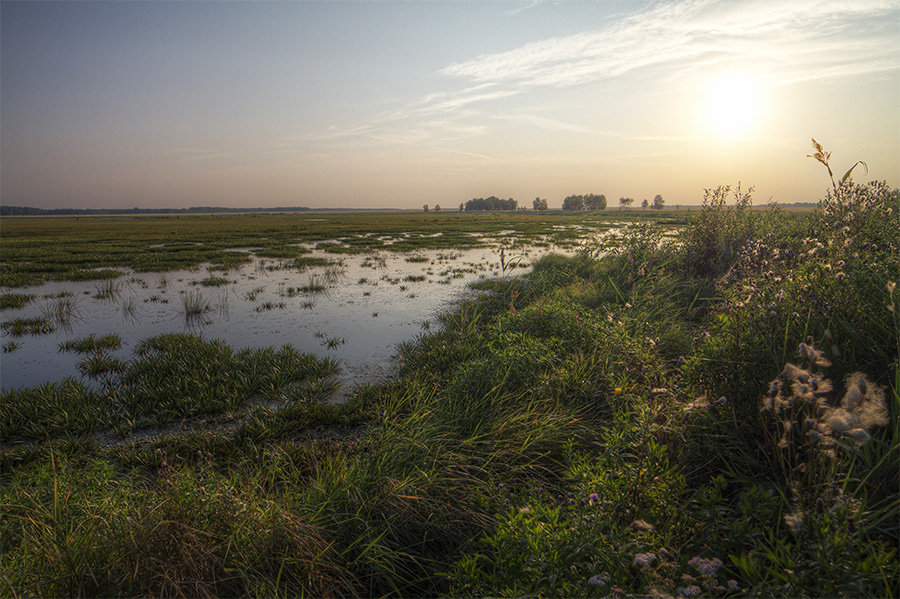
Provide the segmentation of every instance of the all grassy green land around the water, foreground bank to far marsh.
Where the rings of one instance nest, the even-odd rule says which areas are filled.
[[[898,230],[877,183],[811,213],[3,219],[4,310],[125,269],[215,285],[233,248],[570,251],[504,257],[345,402],[290,346],[67,343],[81,379],[0,398],[2,594],[896,597]]]

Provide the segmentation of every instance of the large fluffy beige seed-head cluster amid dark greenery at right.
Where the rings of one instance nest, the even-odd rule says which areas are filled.
[[[769,385],[763,397],[762,411],[781,419],[782,436],[778,447],[790,445],[797,414],[803,414],[803,431],[812,445],[824,449],[828,457],[834,457],[837,440],[863,445],[869,439],[869,430],[888,423],[884,390],[868,380],[865,374],[855,372],[846,381],[846,391],[840,405],[829,401],[833,385],[819,371],[831,365],[812,341],[800,344],[800,359],[806,368],[788,363]],[[790,394],[785,388],[790,385]]]

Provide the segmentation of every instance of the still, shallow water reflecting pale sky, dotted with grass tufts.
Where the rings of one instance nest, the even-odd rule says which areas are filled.
[[[251,251],[252,248],[242,248]],[[54,312],[60,301],[71,301],[68,320],[56,318],[56,330],[40,336],[13,338],[3,344],[17,349],[0,356],[3,389],[31,387],[80,377],[77,364],[84,356],[61,352],[60,344],[88,335],[117,334],[122,348],[114,353],[130,359],[141,339],[164,333],[196,333],[221,339],[234,347],[294,346],[300,351],[340,362],[345,389],[354,383],[390,373],[397,344],[411,341],[431,325],[480,278],[516,277],[543,254],[570,254],[571,246],[526,246],[505,249],[501,268],[499,246],[477,250],[430,250],[413,253],[381,252],[336,256],[313,251],[335,264],[305,270],[288,268],[284,261],[259,259],[239,270],[210,272],[206,268],[168,273],[128,273],[112,281],[115,293],[100,297],[108,282],[47,283],[4,292],[34,294],[20,309],[0,312],[2,321],[34,318]],[[413,258],[414,261],[409,261]],[[227,284],[200,284],[222,277]],[[304,290],[304,287],[324,287]],[[58,299],[71,294],[70,300]],[[200,300],[208,309],[186,316],[185,298]]]

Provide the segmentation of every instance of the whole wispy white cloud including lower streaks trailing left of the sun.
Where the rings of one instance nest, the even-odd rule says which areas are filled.
[[[523,106],[519,99],[540,88],[557,94],[639,71],[679,80],[729,67],[758,67],[766,72],[759,85],[772,87],[896,71],[898,19],[900,0],[657,2],[599,29],[450,64],[436,73],[443,91],[424,94],[363,124],[321,130],[306,141],[340,142],[343,147],[374,141],[487,159],[468,151],[467,142],[497,121],[638,139],[633,131],[596,131],[583,120],[567,122],[564,110],[534,102]]]

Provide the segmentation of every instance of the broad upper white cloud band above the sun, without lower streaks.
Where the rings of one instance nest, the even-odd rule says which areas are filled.
[[[832,76],[897,67],[900,5],[883,2],[689,0],[660,3],[596,31],[525,44],[441,72],[481,84],[570,86],[647,67],[766,59],[785,71],[852,62]]]

